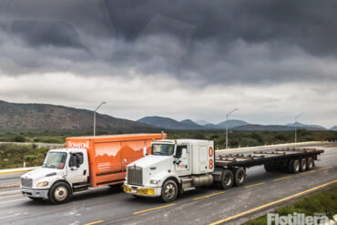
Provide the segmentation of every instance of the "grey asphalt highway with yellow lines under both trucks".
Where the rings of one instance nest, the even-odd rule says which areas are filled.
[[[317,147],[317,146],[316,146]],[[209,224],[237,221],[311,191],[337,184],[337,147],[325,146],[316,168],[301,174],[247,170],[245,186],[204,188],[168,204],[133,198],[122,190],[99,188],[78,193],[63,205],[33,201],[18,188],[0,189],[0,224]],[[243,152],[240,152],[243,153]],[[0,175],[0,186],[18,182],[21,174]],[[241,217],[240,217],[241,216]]]

